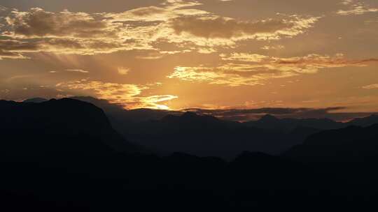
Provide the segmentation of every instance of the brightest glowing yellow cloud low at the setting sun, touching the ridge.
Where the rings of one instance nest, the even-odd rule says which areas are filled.
[[[165,103],[169,100],[178,98],[177,96],[173,95],[142,96],[142,92],[148,89],[148,86],[90,81],[88,79],[62,82],[56,86],[59,89],[68,89],[74,93],[89,93],[97,98],[109,100],[111,103],[123,105],[128,109],[141,107],[169,109]]]

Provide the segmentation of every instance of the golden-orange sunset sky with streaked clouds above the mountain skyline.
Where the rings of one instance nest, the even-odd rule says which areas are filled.
[[[0,0],[0,98],[378,111],[376,0]]]

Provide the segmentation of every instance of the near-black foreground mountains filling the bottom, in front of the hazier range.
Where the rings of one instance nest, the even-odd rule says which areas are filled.
[[[130,112],[113,106],[113,115],[125,113],[123,119]],[[106,117],[111,109],[104,111],[66,98],[39,103],[0,101],[0,208],[377,208],[378,125],[364,126],[374,122],[375,116],[340,123],[346,128],[319,130],[310,128],[321,127],[317,119],[282,121],[264,116],[258,122],[266,127],[256,128],[191,112],[165,114],[156,120],[139,113],[134,117],[144,117],[144,121],[127,123],[130,119],[125,119],[127,127],[118,126],[130,137],[124,139],[111,126],[123,119],[111,122]],[[281,122],[287,125],[283,128]],[[329,125],[323,128],[335,127],[332,121],[324,123]],[[202,156],[237,156],[230,161],[188,153],[158,156],[134,142]],[[271,156],[255,149],[279,153]]]

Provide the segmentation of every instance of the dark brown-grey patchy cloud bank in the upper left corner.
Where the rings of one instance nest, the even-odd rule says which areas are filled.
[[[0,40],[3,52],[55,54],[104,54],[123,50],[152,49],[148,43],[125,37],[127,27],[101,14],[52,13],[42,8],[11,10],[2,19]]]

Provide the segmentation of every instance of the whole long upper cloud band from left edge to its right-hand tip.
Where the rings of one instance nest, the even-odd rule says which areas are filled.
[[[209,54],[217,52],[217,47],[234,48],[241,40],[291,38],[319,19],[278,15],[275,19],[240,21],[195,8],[200,5],[197,1],[165,1],[121,13],[3,8],[6,15],[0,18],[0,36],[6,40],[0,40],[0,59],[26,59],[25,54],[34,52],[93,55],[154,50]],[[165,49],[161,43],[173,44],[176,50]]]

